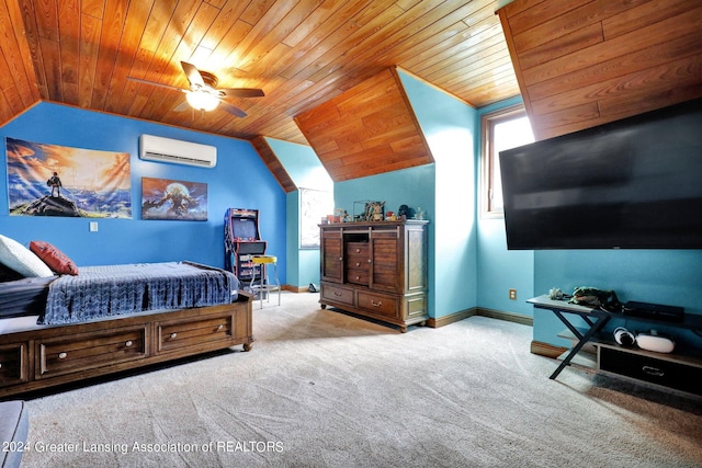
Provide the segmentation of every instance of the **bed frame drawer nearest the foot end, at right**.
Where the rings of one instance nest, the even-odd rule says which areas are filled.
[[[156,324],[157,352],[189,347],[206,349],[213,342],[229,340],[233,336],[233,330],[230,313],[158,322]]]

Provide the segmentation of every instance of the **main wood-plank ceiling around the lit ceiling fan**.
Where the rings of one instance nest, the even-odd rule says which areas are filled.
[[[519,94],[496,0],[0,0],[0,124],[57,102],[307,144],[296,115],[399,66],[474,106]],[[249,115],[176,112],[180,62]]]

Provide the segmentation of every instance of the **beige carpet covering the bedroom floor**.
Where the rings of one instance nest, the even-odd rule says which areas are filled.
[[[531,328],[474,317],[401,334],[254,308],[253,350],[29,401],[23,467],[700,467],[700,400],[565,369]]]

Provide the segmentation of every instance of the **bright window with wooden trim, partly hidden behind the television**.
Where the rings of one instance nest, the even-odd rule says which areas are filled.
[[[499,152],[534,141],[524,106],[518,104],[483,115],[482,135],[480,213],[484,217],[502,217]]]

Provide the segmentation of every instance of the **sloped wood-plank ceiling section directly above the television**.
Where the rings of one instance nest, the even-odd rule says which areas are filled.
[[[702,96],[700,0],[517,0],[499,16],[537,139]]]

